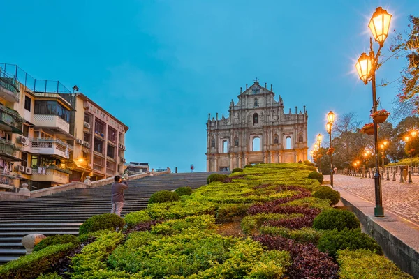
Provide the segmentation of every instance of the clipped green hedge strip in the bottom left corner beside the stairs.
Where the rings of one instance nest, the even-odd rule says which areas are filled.
[[[59,259],[66,257],[68,252],[74,247],[75,245],[73,243],[48,246],[41,251],[33,252],[30,255],[3,264],[0,266],[0,278],[36,278],[41,273],[50,271],[51,267],[57,264]]]

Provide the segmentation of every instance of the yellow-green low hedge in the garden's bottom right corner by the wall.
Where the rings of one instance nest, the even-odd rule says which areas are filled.
[[[337,262],[341,279],[413,279],[389,259],[370,250],[339,250]]]

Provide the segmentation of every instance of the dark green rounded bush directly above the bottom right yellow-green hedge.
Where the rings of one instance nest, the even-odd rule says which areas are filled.
[[[383,254],[383,250],[378,243],[361,232],[361,229],[343,229],[338,231],[334,229],[332,231],[325,232],[320,239],[318,239],[318,250],[322,252],[328,252],[330,256],[336,257],[337,250],[358,250],[367,249],[376,252],[377,254]]]

